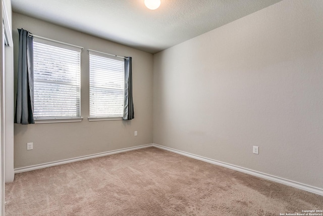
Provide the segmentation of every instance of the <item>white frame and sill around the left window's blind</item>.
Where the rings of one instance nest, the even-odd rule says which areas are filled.
[[[67,44],[65,42],[52,40],[48,38],[43,37],[34,37],[34,42],[38,42],[40,44],[49,45],[53,47],[68,49],[72,51],[77,51],[80,53],[80,61],[79,61],[79,116],[46,116],[46,117],[34,117],[35,123],[62,123],[62,122],[80,122],[83,120],[83,117],[81,115],[81,53],[83,50],[83,47]],[[34,51],[33,51],[34,53]]]

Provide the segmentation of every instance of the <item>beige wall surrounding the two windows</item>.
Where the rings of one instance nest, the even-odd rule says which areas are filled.
[[[18,53],[17,28],[84,47],[81,54],[81,115],[84,119],[75,123],[15,124],[15,168],[152,143],[153,56],[151,54],[13,13],[15,66]],[[89,116],[87,49],[132,57],[135,119],[91,122],[87,120]],[[134,136],[134,131],[138,131],[137,137]],[[26,150],[27,142],[34,143],[33,150]]]

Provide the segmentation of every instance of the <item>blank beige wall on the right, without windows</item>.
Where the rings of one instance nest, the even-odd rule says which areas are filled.
[[[155,54],[153,142],[323,188],[322,11],[285,0]]]

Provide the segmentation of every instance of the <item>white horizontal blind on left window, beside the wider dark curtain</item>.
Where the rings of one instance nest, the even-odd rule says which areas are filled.
[[[49,44],[34,41],[34,118],[80,117],[81,49]]]

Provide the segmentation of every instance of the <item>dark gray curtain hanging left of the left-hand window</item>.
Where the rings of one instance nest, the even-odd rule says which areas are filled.
[[[17,78],[17,103],[15,123],[33,124],[34,109],[34,66],[33,66],[33,37],[28,31],[19,31],[19,57]]]

